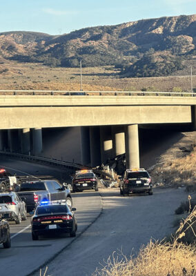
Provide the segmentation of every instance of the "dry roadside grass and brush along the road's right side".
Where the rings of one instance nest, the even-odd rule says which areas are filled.
[[[196,275],[196,147],[181,148],[182,157],[153,168],[156,186],[186,187],[188,199],[175,210],[177,230],[161,241],[150,240],[130,258],[115,252],[93,276],[195,276]]]

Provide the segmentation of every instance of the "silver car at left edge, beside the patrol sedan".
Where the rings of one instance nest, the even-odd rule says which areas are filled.
[[[26,220],[26,203],[14,192],[0,193],[0,215],[9,221],[20,224]]]

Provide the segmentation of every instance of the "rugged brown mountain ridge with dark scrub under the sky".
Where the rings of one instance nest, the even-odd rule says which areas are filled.
[[[82,60],[83,66],[116,66],[126,77],[183,70],[195,59],[195,48],[196,14],[88,27],[61,35],[0,33],[3,59],[63,67],[77,67]]]

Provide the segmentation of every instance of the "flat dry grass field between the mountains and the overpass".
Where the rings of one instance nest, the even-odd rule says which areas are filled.
[[[8,69],[6,72],[2,70]],[[0,65],[1,89],[79,90],[79,68],[50,68],[39,63],[6,61]],[[181,88],[190,91],[190,76],[119,79],[118,70],[112,66],[83,68],[84,90],[157,90],[172,91]],[[193,76],[196,83],[196,76]],[[195,87],[194,87],[195,88]]]

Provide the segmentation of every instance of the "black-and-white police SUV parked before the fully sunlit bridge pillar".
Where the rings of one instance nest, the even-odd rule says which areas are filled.
[[[144,168],[129,169],[124,172],[120,182],[120,194],[148,193],[153,195],[153,184],[150,175]]]

